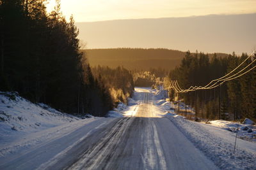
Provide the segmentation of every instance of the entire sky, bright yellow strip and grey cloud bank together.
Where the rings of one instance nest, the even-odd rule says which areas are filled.
[[[256,50],[256,0],[61,0],[61,11],[85,48]]]

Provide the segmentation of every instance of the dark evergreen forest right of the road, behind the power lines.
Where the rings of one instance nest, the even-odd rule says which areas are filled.
[[[170,80],[178,80],[182,89],[192,86],[205,86],[211,80],[215,80],[236,68],[248,55],[243,53],[240,57],[235,53],[227,57],[212,57],[205,53],[191,54],[186,52],[180,66],[170,71]],[[254,57],[255,59],[255,57]],[[247,66],[253,59],[243,64]],[[248,69],[255,66],[252,64]],[[239,69],[238,71],[240,71]],[[237,73],[238,71],[234,72]],[[170,99],[174,100],[177,96],[172,90]],[[216,119],[219,117],[219,99],[221,119],[237,120],[237,118],[256,119],[256,70],[253,69],[243,76],[227,81],[217,88],[209,90],[196,90],[179,94],[180,99],[186,104],[195,108],[197,106],[198,117]],[[196,97],[197,96],[197,97]],[[220,97],[220,98],[219,98]],[[197,99],[197,101],[196,101]],[[228,113],[228,114],[227,114]]]

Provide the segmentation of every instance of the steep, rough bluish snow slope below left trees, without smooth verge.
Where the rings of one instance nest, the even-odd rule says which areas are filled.
[[[61,113],[45,104],[33,104],[15,93],[0,93],[0,141],[9,143],[17,136],[42,131],[77,117]]]

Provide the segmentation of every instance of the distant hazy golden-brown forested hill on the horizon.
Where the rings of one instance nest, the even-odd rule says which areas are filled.
[[[150,68],[170,70],[179,66],[186,52],[166,48],[109,48],[85,50],[91,66],[124,66],[127,69],[149,71]],[[227,56],[218,53],[218,56]],[[209,54],[212,57],[212,54]]]

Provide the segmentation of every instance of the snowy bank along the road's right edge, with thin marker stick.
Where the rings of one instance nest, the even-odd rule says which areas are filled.
[[[233,153],[235,133],[182,117],[167,117],[220,169],[255,169],[256,143],[237,139]]]

